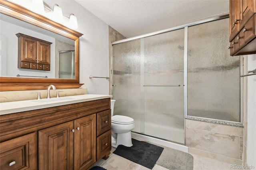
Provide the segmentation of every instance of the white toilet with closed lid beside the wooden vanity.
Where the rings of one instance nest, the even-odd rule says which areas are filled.
[[[112,146],[117,148],[118,145],[132,146],[131,130],[135,127],[134,119],[114,115],[114,104],[116,100],[111,100],[111,129],[112,129]]]

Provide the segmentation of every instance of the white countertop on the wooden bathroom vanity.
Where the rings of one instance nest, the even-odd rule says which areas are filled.
[[[98,99],[110,98],[112,95],[75,95],[51,99],[11,101],[0,103],[0,115],[10,113],[18,113],[23,111],[31,111],[36,109],[44,109],[48,107],[56,107],[85,101],[93,101]]]

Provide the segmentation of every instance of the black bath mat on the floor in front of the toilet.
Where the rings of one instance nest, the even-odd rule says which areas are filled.
[[[156,146],[144,141],[139,141],[133,138],[132,144],[132,147],[118,145],[113,153],[149,169],[154,167],[156,161],[164,150],[164,148],[160,146]]]

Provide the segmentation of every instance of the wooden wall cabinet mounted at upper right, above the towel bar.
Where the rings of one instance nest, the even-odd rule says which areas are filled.
[[[230,0],[230,55],[256,53],[256,0]]]

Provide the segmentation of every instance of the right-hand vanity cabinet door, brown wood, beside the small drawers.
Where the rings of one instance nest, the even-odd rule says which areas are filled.
[[[74,121],[74,169],[87,170],[96,162],[96,114]]]

